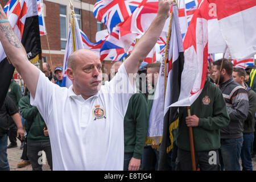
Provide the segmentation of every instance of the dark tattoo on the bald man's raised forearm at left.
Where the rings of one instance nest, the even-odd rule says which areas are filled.
[[[23,48],[22,44],[20,43],[10,26],[0,26],[0,30],[5,33],[5,37],[12,46],[16,48]]]

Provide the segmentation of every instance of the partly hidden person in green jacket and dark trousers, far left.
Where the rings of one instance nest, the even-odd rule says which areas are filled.
[[[22,89],[19,86],[19,84],[17,84],[14,81],[14,78],[11,79],[11,83],[10,83],[7,94],[11,98],[11,100],[13,100],[15,106],[19,109],[19,100],[20,98],[22,98]],[[17,130],[18,129],[13,121],[13,118],[9,117],[8,137],[11,143],[7,148],[17,147],[17,139],[16,139]]]

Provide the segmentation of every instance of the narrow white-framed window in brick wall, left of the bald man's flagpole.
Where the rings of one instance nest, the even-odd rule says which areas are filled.
[[[67,44],[67,9],[60,5],[60,46],[65,49]]]

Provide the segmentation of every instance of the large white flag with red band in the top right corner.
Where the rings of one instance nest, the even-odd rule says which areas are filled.
[[[256,53],[256,1],[209,0],[216,6],[221,34],[233,59],[243,60]]]

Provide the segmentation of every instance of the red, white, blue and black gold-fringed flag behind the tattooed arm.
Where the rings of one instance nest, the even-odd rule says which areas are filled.
[[[42,52],[39,34],[38,6],[36,0],[11,0],[3,8],[15,34],[26,49],[28,60],[36,62]],[[6,58],[0,44],[0,106],[5,100],[13,77],[14,67]]]

